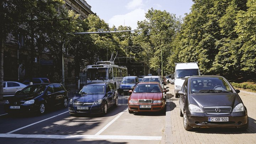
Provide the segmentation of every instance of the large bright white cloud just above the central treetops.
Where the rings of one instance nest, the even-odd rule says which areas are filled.
[[[146,11],[143,9],[135,9],[124,15],[115,15],[108,20],[109,26],[130,26],[132,30],[137,29],[137,22],[145,19]],[[125,23],[125,24],[124,24]]]

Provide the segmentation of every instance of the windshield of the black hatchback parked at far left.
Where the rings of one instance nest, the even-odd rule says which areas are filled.
[[[30,85],[25,89],[21,90],[20,94],[41,95],[43,94],[46,87],[46,85]]]

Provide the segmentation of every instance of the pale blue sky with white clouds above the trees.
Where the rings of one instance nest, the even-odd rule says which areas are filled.
[[[130,26],[137,29],[137,22],[145,20],[145,13],[151,9],[166,10],[176,17],[190,13],[192,0],[85,0],[92,12],[110,27]]]

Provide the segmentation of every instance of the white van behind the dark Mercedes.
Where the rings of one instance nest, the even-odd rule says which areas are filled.
[[[200,71],[196,62],[194,63],[175,63],[175,97],[177,92],[181,90],[181,87],[188,76],[200,75]]]

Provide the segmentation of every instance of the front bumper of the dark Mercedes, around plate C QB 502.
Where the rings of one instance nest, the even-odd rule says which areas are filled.
[[[203,116],[204,115],[204,116]],[[210,122],[209,117],[228,117],[228,122]],[[203,127],[244,127],[248,123],[247,112],[236,112],[230,114],[207,114],[201,113],[201,115],[187,114],[188,124],[191,127],[203,128]]]

